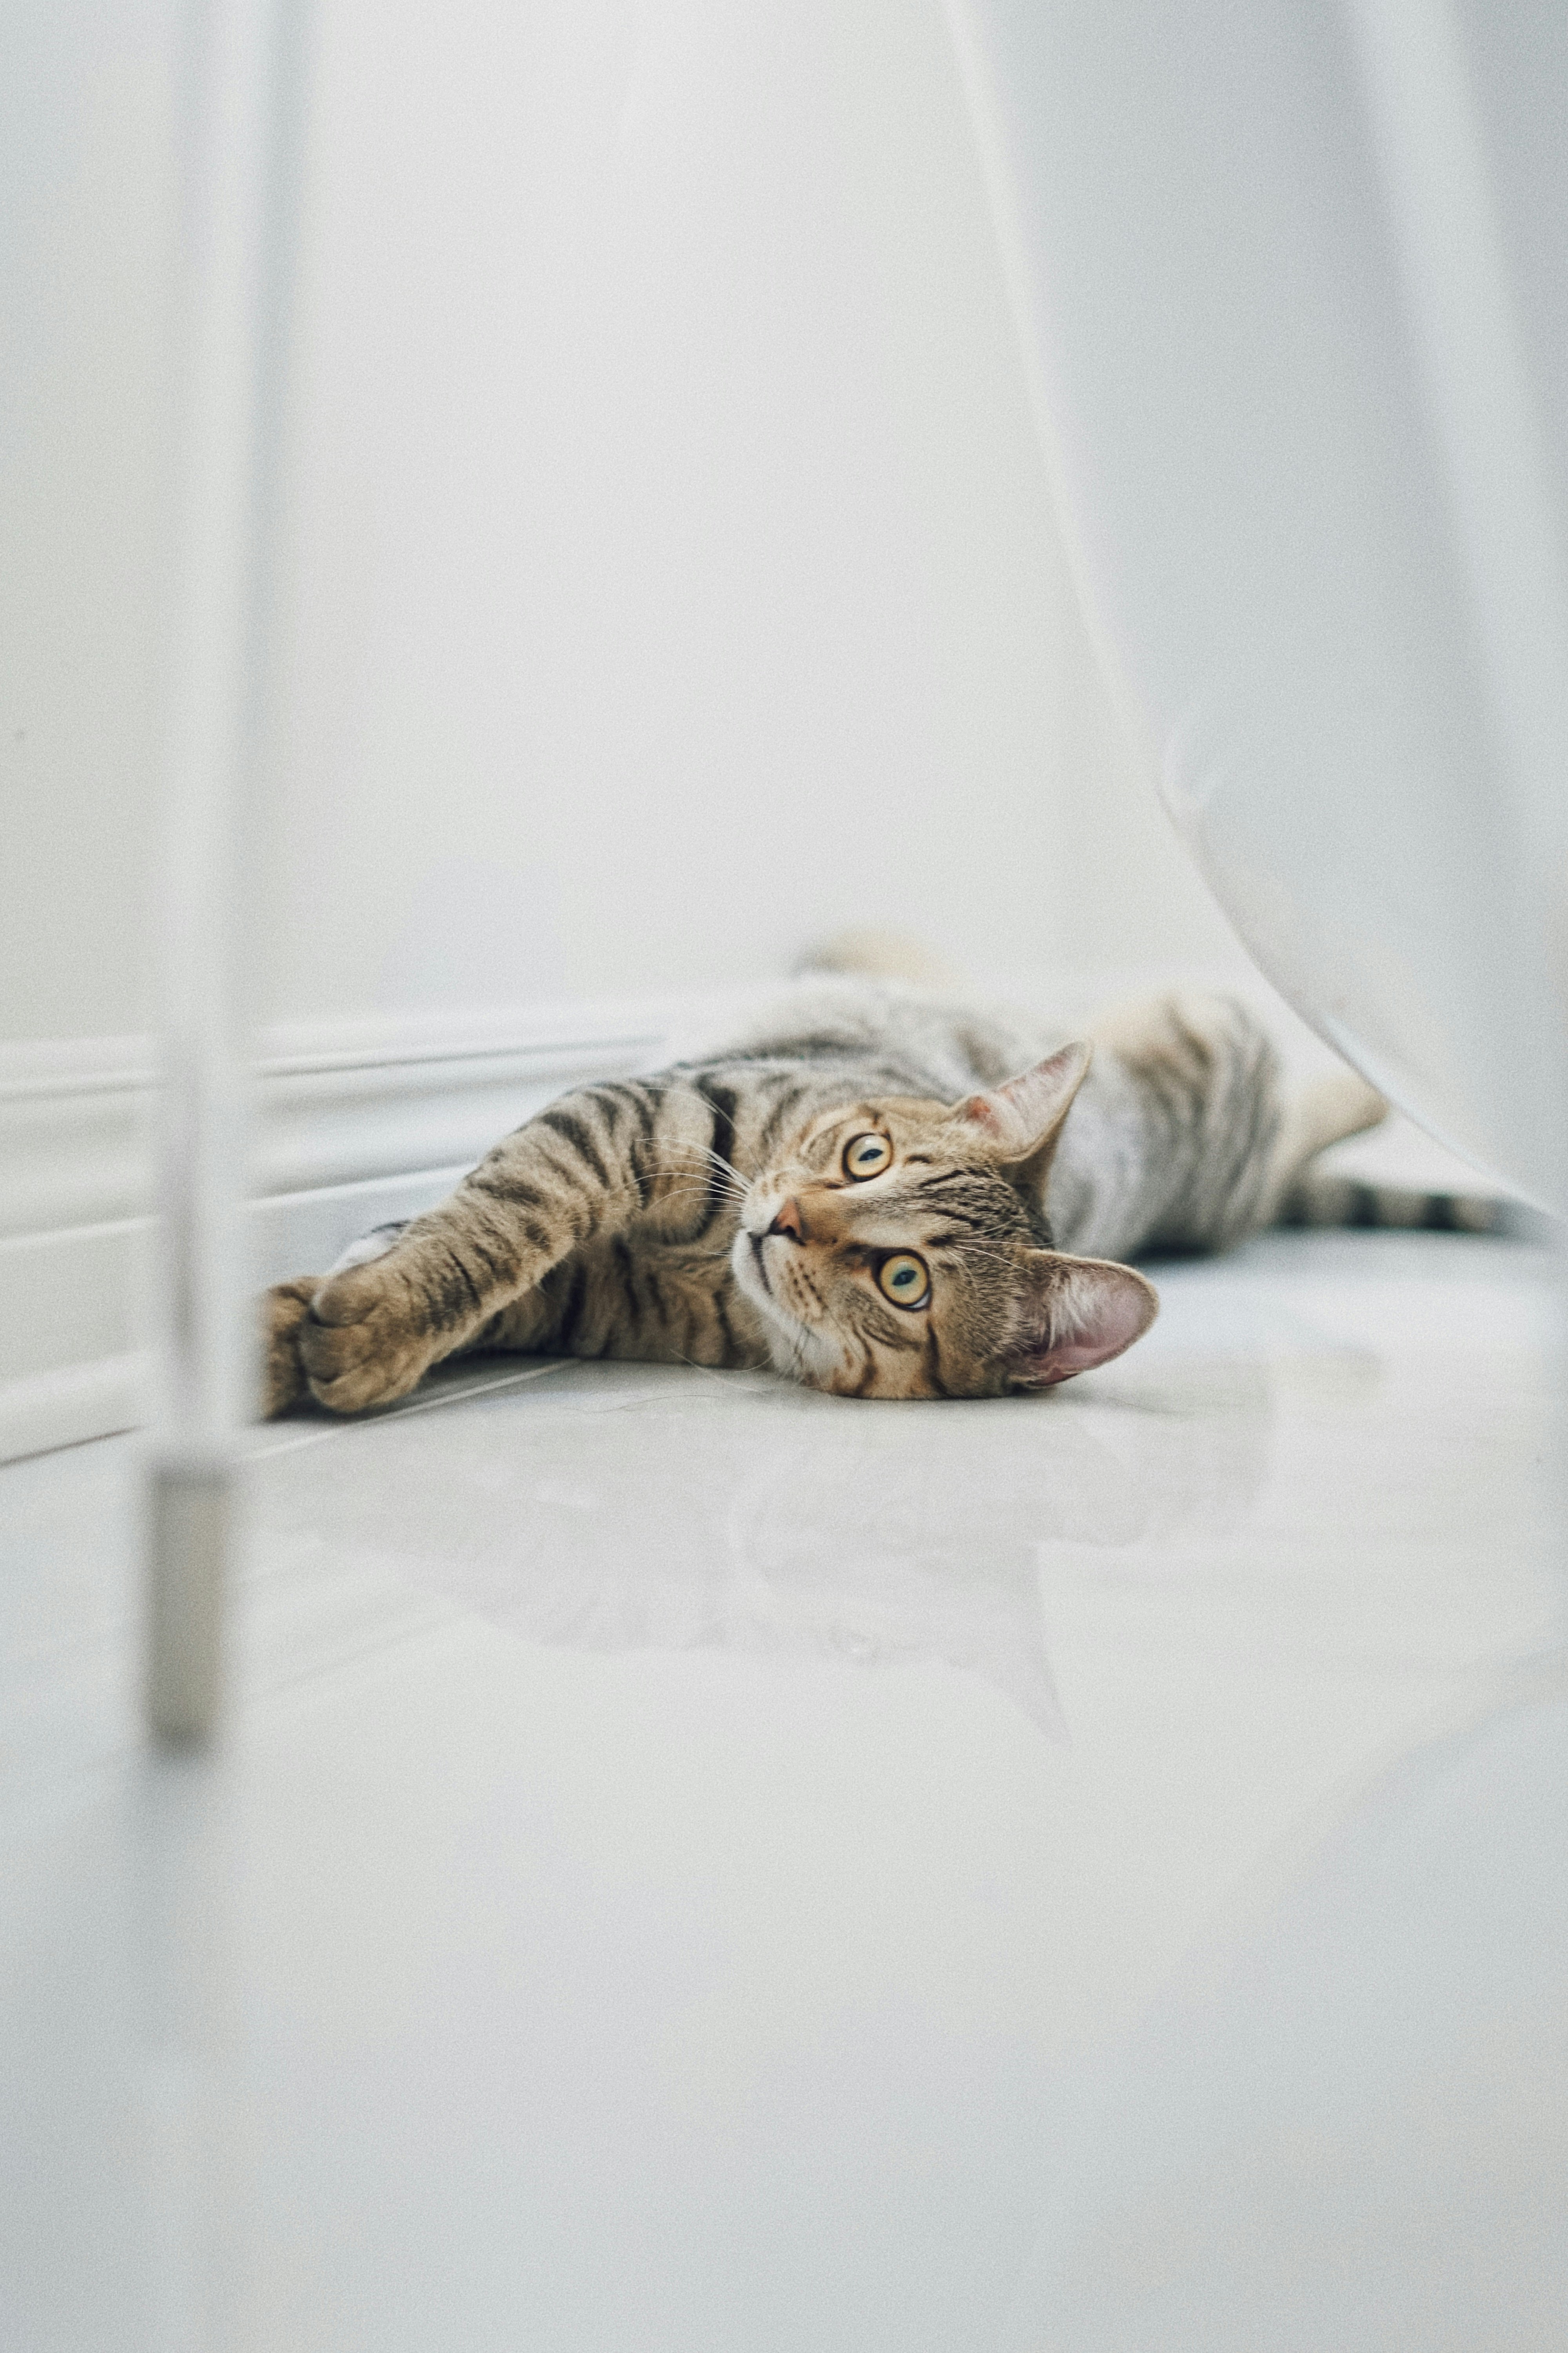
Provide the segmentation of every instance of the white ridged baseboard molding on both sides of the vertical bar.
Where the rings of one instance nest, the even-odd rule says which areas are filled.
[[[355,1235],[437,1202],[567,1087],[658,1068],[757,995],[268,1031],[256,1282],[329,1266]],[[0,1461],[143,1414],[153,1111],[146,1038],[0,1045]]]

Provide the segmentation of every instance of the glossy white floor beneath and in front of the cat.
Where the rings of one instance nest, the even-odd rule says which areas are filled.
[[[0,2341],[1566,2344],[1549,1264],[1164,1297],[1039,1402],[261,1433],[214,1767],[134,1442],[0,1473]]]

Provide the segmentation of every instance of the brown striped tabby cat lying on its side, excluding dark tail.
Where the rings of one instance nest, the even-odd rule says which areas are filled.
[[[1058,1045],[1020,1014],[816,986],[729,1052],[581,1087],[456,1193],[268,1294],[266,1412],[407,1395],[473,1348],[776,1365],[846,1398],[994,1398],[1147,1332],[1126,1257],[1222,1249],[1382,1118],[1284,1096],[1258,1021],[1173,995]]]

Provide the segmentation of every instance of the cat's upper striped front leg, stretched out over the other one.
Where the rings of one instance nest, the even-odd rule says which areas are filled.
[[[696,1087],[581,1087],[498,1144],[386,1254],[315,1285],[280,1285],[303,1384],[336,1414],[407,1398],[430,1365],[475,1346],[552,1266],[632,1221],[682,1214],[710,1136]],[[287,1398],[273,1379],[270,1393]],[[275,1412],[282,1405],[273,1407]]]

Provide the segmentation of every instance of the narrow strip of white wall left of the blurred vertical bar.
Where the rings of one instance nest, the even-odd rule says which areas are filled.
[[[174,0],[0,0],[0,1040],[146,1021]]]

